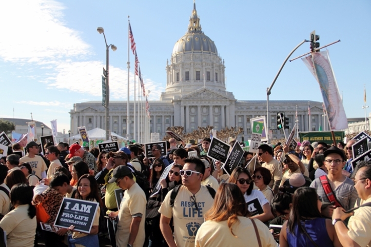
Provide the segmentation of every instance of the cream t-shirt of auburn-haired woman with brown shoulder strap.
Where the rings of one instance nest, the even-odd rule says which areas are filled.
[[[203,223],[197,232],[196,247],[214,246],[259,246],[257,235],[249,218],[238,216],[240,222],[232,225],[233,236],[230,233],[227,220],[215,222],[208,220]],[[254,220],[262,246],[276,247],[277,243],[269,229],[260,220]]]

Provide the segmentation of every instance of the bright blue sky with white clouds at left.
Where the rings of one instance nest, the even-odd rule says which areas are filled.
[[[128,15],[149,100],[159,100],[166,60],[187,31],[193,1],[14,0],[1,1],[0,8],[0,118],[31,118],[32,112],[49,127],[57,119],[58,131],[67,132],[73,104],[102,100],[106,47],[96,28],[103,27],[107,43],[118,47],[109,52],[110,100],[127,100]],[[365,116],[364,85],[371,95],[370,1],[197,0],[196,8],[202,30],[225,60],[226,88],[236,99],[266,100],[286,56],[316,30],[321,46],[341,40],[327,49],[345,112],[348,118]],[[291,58],[308,51],[305,43]],[[129,59],[133,81],[131,51]],[[301,59],[287,61],[270,100],[323,101]]]

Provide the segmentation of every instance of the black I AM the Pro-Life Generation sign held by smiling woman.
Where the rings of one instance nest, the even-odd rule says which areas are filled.
[[[75,226],[75,231],[90,233],[98,202],[64,197],[54,225],[61,228]]]

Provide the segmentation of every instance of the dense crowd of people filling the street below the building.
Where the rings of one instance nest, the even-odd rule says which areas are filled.
[[[171,138],[166,154],[152,145],[151,158],[138,143],[114,152],[48,143],[41,154],[31,141],[23,157],[10,149],[0,165],[0,244],[371,246],[371,161],[351,162],[355,140],[263,143],[232,171],[207,156],[210,142]],[[43,230],[66,197],[99,205],[90,232]]]

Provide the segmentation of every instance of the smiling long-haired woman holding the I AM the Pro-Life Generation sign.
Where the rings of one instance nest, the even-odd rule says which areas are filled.
[[[99,202],[102,206],[102,200],[99,196],[98,185],[94,176],[89,174],[84,174],[79,178],[77,182],[77,192],[75,195],[76,199],[87,200]],[[73,234],[68,236],[68,243],[75,244],[76,246],[86,246],[84,244],[89,243],[86,247],[98,247],[98,231],[99,231],[99,216],[101,213],[100,207],[96,208],[95,217],[93,219],[93,225],[91,227],[90,233],[79,233],[74,230],[74,225],[68,228],[69,231],[72,231]]]

